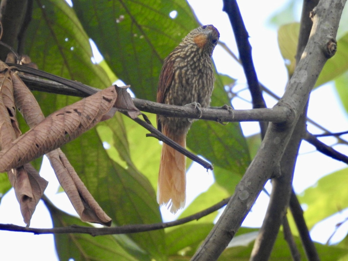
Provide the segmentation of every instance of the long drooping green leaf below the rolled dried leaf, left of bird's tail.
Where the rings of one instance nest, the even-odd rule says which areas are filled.
[[[88,190],[114,223],[161,222],[155,191],[149,181],[132,165],[123,168],[111,160],[95,129],[62,149]],[[130,237],[154,258],[163,259],[163,230],[132,234]]]

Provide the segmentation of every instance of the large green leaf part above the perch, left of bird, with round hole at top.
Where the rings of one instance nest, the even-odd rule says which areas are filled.
[[[184,0],[78,0],[73,8],[117,77],[152,101],[164,58],[198,26]]]

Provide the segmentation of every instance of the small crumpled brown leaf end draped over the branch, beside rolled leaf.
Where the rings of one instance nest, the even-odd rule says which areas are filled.
[[[130,97],[129,93],[127,92],[127,86],[123,87],[116,87],[116,92],[117,92],[117,99],[115,102],[115,107],[127,111],[129,117],[132,119],[135,119],[138,115],[141,114],[140,110],[135,107],[132,97]]]

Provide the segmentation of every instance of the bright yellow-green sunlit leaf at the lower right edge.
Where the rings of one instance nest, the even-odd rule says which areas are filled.
[[[308,206],[304,211],[304,218],[308,228],[312,228],[317,222],[348,207],[348,191],[345,182],[339,180],[348,179],[348,168],[322,177],[315,187],[304,191],[298,198],[301,204]]]

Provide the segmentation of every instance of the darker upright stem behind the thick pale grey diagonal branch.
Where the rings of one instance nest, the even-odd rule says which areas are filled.
[[[313,8],[315,8],[317,3],[318,1],[303,1],[296,64],[299,63],[303,50],[307,45],[313,24],[313,22],[309,18],[309,12],[313,10]],[[263,260],[265,258],[269,258],[278,235],[280,224],[283,223],[284,234],[286,231],[288,233],[291,233],[290,229],[285,230],[285,228],[287,228],[286,211],[289,205],[290,195],[293,192],[292,180],[296,158],[298,156],[303,132],[306,128],[307,108],[308,103],[306,104],[306,106],[304,106],[304,110],[296,123],[294,131],[290,138],[290,142],[286,146],[284,155],[282,157],[282,160],[280,161],[281,176],[272,179],[272,192],[266,212],[266,217],[263,221],[259,235],[255,240],[252,257],[250,260]],[[296,195],[292,196],[296,197]],[[286,237],[289,239],[290,237],[292,237],[292,235],[290,234]],[[306,246],[304,247],[306,248]],[[316,252],[313,243],[308,247],[313,247],[313,252]],[[292,250],[292,247],[291,252],[294,252],[294,250]],[[298,253],[299,252],[297,251],[297,253],[294,255],[296,256]]]

